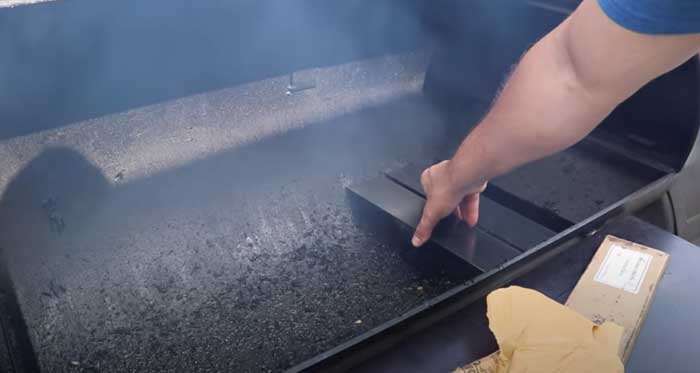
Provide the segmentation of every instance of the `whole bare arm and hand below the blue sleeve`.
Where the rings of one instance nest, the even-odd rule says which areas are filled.
[[[428,198],[413,245],[423,245],[451,213],[476,225],[488,180],[577,143],[622,101],[698,50],[700,34],[632,32],[596,0],[584,0],[524,55],[453,158],[423,172]]]

